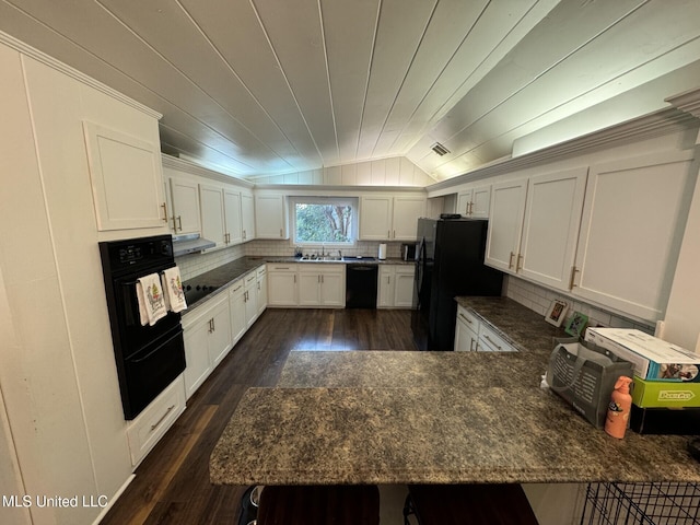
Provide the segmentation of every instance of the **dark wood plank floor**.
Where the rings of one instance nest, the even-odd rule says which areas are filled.
[[[273,386],[293,350],[416,350],[410,311],[267,310],[136,470],[102,524],[237,524],[247,487],[213,487],[209,455],[243,393]]]

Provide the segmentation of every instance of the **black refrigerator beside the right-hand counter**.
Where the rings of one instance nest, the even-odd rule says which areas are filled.
[[[411,329],[419,350],[454,350],[457,295],[501,295],[503,273],[485,266],[488,221],[419,219]]]

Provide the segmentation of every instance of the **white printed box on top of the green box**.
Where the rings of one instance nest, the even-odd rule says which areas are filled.
[[[700,355],[643,331],[588,328],[585,339],[630,361],[642,380],[700,383]]]

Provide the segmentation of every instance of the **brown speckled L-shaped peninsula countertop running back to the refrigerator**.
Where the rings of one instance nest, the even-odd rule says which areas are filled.
[[[618,441],[539,388],[562,332],[505,298],[459,304],[518,351],[292,352],[210,458],[218,485],[700,481],[687,438]]]

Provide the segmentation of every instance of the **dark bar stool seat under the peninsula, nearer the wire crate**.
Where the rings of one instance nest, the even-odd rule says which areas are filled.
[[[404,524],[538,525],[520,485],[410,485]]]

